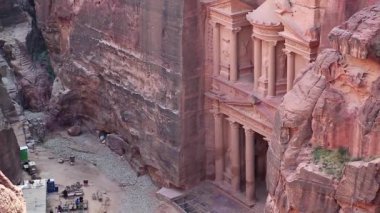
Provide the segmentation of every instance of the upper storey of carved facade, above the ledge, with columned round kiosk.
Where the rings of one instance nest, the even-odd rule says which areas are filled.
[[[317,55],[319,5],[317,0],[267,0],[253,9],[239,0],[213,3],[214,78],[259,98],[285,94],[296,71]]]

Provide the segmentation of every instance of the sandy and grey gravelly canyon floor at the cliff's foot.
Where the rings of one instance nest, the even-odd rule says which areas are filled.
[[[59,158],[70,155],[76,157],[75,165],[58,163]],[[30,159],[36,162],[41,178],[53,178],[60,192],[66,185],[89,180],[89,186],[83,187],[84,199],[89,201],[87,212],[176,212],[156,198],[158,188],[149,176],[137,177],[126,160],[91,134],[70,137],[64,131],[52,133],[44,144],[35,147]],[[103,198],[110,198],[110,206],[92,200],[92,193],[97,191],[104,193]],[[58,193],[48,195],[47,211],[64,202]]]

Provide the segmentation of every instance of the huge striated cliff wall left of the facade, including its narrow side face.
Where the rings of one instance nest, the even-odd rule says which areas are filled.
[[[35,4],[57,74],[50,124],[83,119],[88,127],[118,134],[126,146],[138,147],[143,163],[168,183],[200,180],[198,1]]]

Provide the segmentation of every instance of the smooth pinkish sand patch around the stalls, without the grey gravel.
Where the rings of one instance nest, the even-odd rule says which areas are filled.
[[[42,178],[54,178],[55,182],[59,186],[61,192],[65,186],[74,184],[79,181],[89,180],[89,186],[83,187],[84,198],[89,201],[88,212],[122,212],[119,208],[121,206],[121,197],[123,196],[122,188],[114,181],[109,180],[104,174],[99,171],[94,165],[85,161],[77,161],[74,166],[70,166],[68,163],[59,164],[57,159],[51,159],[54,155],[43,147],[37,147],[36,157],[34,160],[38,165],[38,169],[41,171],[40,176]],[[50,158],[50,159],[49,159]],[[93,201],[91,199],[92,193],[101,191],[105,193],[111,199],[111,205],[108,208],[103,208],[102,203],[99,201]],[[48,207],[47,210],[54,209],[59,204],[63,205],[65,199],[60,198],[57,193],[48,195]],[[103,211],[102,211],[103,210]]]

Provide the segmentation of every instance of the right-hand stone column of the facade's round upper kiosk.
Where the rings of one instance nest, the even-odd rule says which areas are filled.
[[[269,69],[268,69],[268,95],[276,95],[276,43],[268,42]]]

